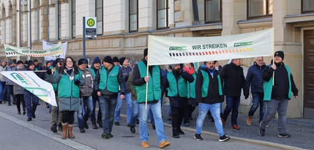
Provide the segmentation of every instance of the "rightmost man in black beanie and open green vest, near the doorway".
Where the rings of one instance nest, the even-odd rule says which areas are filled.
[[[261,136],[265,135],[265,128],[269,121],[274,118],[276,112],[278,112],[278,137],[287,138],[291,136],[285,133],[285,114],[291,99],[291,92],[293,92],[294,98],[298,98],[298,89],[294,84],[290,69],[283,63],[284,57],[283,51],[275,52],[275,63],[267,66],[263,72],[264,100],[267,103],[267,110],[260,122],[259,133]]]

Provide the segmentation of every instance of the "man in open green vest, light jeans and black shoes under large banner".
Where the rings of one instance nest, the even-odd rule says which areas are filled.
[[[205,61],[205,67],[200,68],[195,83],[195,94],[199,107],[199,115],[196,121],[195,140],[203,140],[200,134],[207,112],[211,112],[214,118],[219,141],[230,140],[223,132],[223,123],[220,118],[220,106],[223,103],[223,82],[220,80],[214,61]]]

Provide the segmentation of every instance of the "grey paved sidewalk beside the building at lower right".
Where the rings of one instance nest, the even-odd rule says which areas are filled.
[[[165,123],[171,124],[171,121],[167,120],[169,114],[170,105],[163,104],[162,113],[163,113],[163,121]],[[121,114],[126,114],[126,104],[124,101],[124,105],[121,109]],[[195,129],[196,119],[198,116],[198,107],[196,107],[193,112],[193,120],[190,121],[190,126],[187,128]],[[257,117],[254,117],[251,126],[248,126],[246,123],[247,115],[239,114],[238,117],[238,126],[241,130],[232,130],[230,124],[230,117],[228,117],[224,131],[226,135],[230,135],[232,137],[241,137],[250,140],[261,140],[265,142],[273,142],[278,144],[284,144],[292,147],[299,147],[302,149],[314,149],[314,119],[287,119],[286,123],[286,132],[290,133],[292,136],[290,138],[282,138],[278,137],[278,122],[276,119],[273,119],[269,123],[269,128],[266,129],[266,135],[261,137],[258,133],[258,121]],[[149,124],[150,126],[150,124]],[[186,127],[183,125],[183,127]],[[211,122],[211,119],[205,119],[203,125],[203,131],[208,131],[211,133],[217,133],[214,122]],[[193,139],[193,137],[191,137]]]

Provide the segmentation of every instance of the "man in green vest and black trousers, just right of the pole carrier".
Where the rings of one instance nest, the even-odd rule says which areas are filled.
[[[173,64],[172,72],[167,73],[163,83],[163,91],[167,89],[166,96],[169,97],[172,111],[172,137],[179,138],[184,135],[181,123],[184,112],[188,110],[188,83],[193,82],[194,77],[181,69],[180,64]]]

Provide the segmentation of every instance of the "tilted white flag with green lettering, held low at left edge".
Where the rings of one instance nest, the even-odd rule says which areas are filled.
[[[33,71],[2,71],[2,75],[19,84],[46,103],[57,106],[52,84],[41,80]]]

